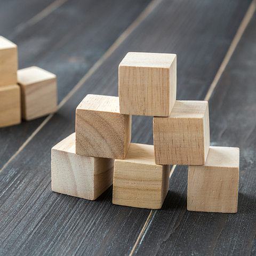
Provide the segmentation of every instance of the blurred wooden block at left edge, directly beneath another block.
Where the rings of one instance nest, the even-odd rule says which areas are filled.
[[[20,86],[0,87],[0,127],[21,122]]]

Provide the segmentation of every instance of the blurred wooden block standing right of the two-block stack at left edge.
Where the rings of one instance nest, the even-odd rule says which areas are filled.
[[[42,68],[18,70],[21,86],[22,118],[35,119],[57,111],[56,76]]]

